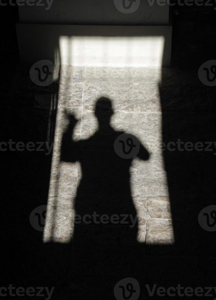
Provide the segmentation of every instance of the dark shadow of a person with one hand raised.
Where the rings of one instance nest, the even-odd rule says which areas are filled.
[[[130,165],[134,156],[147,160],[149,153],[136,137],[110,126],[112,114],[111,100],[100,98],[95,108],[98,131],[87,140],[73,141],[77,120],[70,114],[63,135],[61,160],[79,161],[82,168],[69,276],[76,299],[115,299],[115,284],[137,276],[140,269]]]

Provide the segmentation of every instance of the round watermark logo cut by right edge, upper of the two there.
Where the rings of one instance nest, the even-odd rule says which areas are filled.
[[[207,86],[216,85],[216,59],[204,62],[199,70],[198,77],[200,81]]]

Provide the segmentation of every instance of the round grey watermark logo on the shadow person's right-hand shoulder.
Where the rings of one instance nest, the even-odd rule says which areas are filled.
[[[114,150],[119,157],[130,159],[137,156],[140,142],[133,135],[123,133],[115,139]]]

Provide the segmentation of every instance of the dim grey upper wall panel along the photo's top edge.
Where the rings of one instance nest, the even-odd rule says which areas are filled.
[[[158,6],[156,2],[152,3],[153,5],[150,6],[147,1],[137,0],[131,6],[133,9],[133,6],[137,5],[137,9],[135,7],[133,13],[127,13],[129,9],[124,9],[122,1],[119,0],[54,0],[50,6],[46,1],[41,3],[44,6],[20,6],[19,14],[20,21],[31,23],[168,24],[169,6]],[[126,6],[129,4],[130,2],[126,0]]]

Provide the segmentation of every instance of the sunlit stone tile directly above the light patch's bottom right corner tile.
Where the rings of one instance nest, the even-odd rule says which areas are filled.
[[[148,196],[146,202],[147,219],[171,219],[170,198],[168,196]]]

